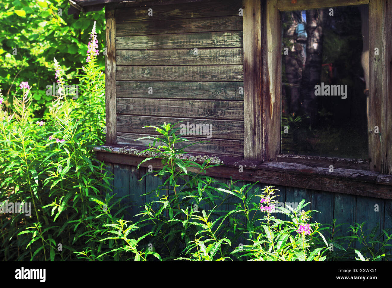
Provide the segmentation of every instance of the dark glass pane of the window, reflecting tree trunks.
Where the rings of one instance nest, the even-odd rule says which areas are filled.
[[[368,5],[281,19],[281,152],[367,159]]]

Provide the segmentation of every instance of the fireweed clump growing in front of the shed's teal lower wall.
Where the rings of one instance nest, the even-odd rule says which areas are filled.
[[[159,136],[137,139],[152,141],[140,152],[147,157],[140,165],[152,159],[162,161],[160,170],[143,176],[160,177],[162,185],[143,195],[150,200],[135,216],[138,246],[150,247],[159,254],[156,259],[163,261],[328,260],[330,243],[322,231],[330,227],[310,221],[317,211],[305,211],[309,203],[302,200],[296,209],[276,207],[279,190],[273,186],[261,190],[258,183],[237,187],[238,181],[220,183],[205,176],[207,169],[220,164],[213,158],[203,163],[186,158],[183,149],[193,144],[187,145],[187,139],[176,135],[175,125],[145,126]],[[276,209],[287,220],[277,219]],[[116,233],[123,235],[120,230]]]

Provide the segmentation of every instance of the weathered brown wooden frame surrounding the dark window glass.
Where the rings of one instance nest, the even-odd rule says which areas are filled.
[[[244,159],[284,161],[392,174],[391,9],[385,0],[243,0]],[[367,4],[369,7],[369,159],[282,154],[281,12]],[[257,21],[260,19],[260,21]],[[390,35],[390,34],[389,34]],[[374,56],[374,48],[379,55]],[[389,51],[388,51],[389,50]],[[279,52],[280,51],[280,52]],[[373,57],[374,56],[374,57]],[[258,66],[260,65],[260,66]],[[279,77],[273,77],[279,75]],[[389,94],[389,95],[388,95]],[[381,134],[374,133],[379,127]],[[371,128],[373,127],[373,129]],[[384,129],[383,129],[384,128]],[[260,134],[261,131],[261,134]],[[257,139],[259,138],[259,139]],[[328,167],[327,165],[327,167]]]

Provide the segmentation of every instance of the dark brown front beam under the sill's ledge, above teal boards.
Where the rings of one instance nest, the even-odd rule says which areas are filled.
[[[139,157],[97,151],[97,158],[105,162],[137,166],[142,159],[145,159],[145,156]],[[220,163],[220,156],[216,157],[214,161]],[[362,177],[361,175],[364,172],[362,170],[349,171],[350,169],[337,169],[336,172],[328,174],[327,170],[318,171],[319,168],[305,167],[305,169],[305,165],[298,165],[297,167],[295,165],[289,165],[291,168],[285,169],[283,164],[287,163],[269,162],[258,165],[257,169],[254,169],[254,167],[249,169],[244,166],[243,170],[238,169],[238,167],[233,167],[233,165],[230,165],[231,167],[217,166],[207,170],[207,175],[221,178],[232,177],[233,179],[252,182],[261,181],[261,183],[268,183],[270,185],[284,185],[342,194],[392,199],[392,186],[387,183],[387,180],[383,180],[387,185],[377,184],[375,180],[377,179],[377,173],[375,172],[367,172]],[[148,167],[148,165],[152,165],[158,169],[162,167],[160,159],[146,161],[141,166]],[[199,172],[192,168],[189,171]],[[352,175],[350,176],[350,174]]]

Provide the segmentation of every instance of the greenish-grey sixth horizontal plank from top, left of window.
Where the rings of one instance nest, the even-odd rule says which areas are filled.
[[[117,81],[116,93],[129,98],[243,100],[243,82]]]

